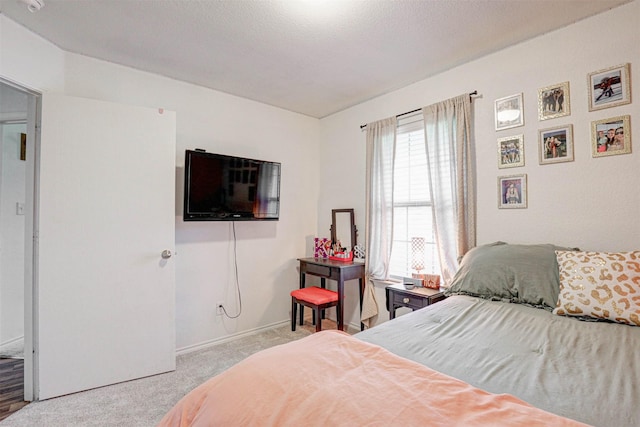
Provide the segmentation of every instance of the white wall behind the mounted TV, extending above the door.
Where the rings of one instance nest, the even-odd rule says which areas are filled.
[[[0,76],[4,78],[40,91],[176,111],[177,255],[172,260],[176,263],[178,349],[289,318],[289,292],[298,284],[296,258],[311,254],[308,242],[316,233],[319,120],[65,53],[2,15],[0,34]],[[238,308],[231,223],[182,221],[184,150],[196,147],[282,163],[280,220],[236,223],[243,308],[236,320],[215,315],[218,302],[224,302],[231,314]],[[163,249],[158,248],[158,253]]]

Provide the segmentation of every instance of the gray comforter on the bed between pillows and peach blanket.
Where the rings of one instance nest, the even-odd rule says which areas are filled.
[[[453,296],[356,336],[558,415],[640,426],[640,327]]]

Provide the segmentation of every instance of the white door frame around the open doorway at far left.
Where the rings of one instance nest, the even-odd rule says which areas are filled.
[[[38,183],[40,176],[40,117],[42,94],[0,76],[0,83],[27,95],[27,164],[25,174],[24,257],[24,400],[38,400]]]

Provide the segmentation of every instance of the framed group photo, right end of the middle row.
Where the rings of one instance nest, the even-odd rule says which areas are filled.
[[[591,122],[591,156],[631,153],[631,116],[618,116]]]

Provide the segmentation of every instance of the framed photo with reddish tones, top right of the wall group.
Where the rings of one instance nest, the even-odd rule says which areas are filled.
[[[595,71],[587,76],[589,111],[631,103],[629,64]]]

